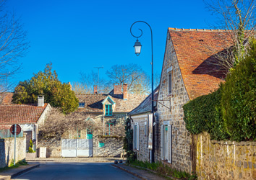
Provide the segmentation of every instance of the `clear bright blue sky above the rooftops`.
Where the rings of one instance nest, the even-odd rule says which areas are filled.
[[[8,9],[21,17],[30,48],[17,81],[43,71],[46,63],[62,82],[80,80],[80,72],[96,71],[100,76],[116,64],[137,63],[151,74],[150,30],[137,24],[142,53],[136,56],[135,37],[129,32],[133,22],[148,22],[153,29],[155,72],[161,72],[168,27],[210,29],[215,21],[202,0],[183,1],[88,1],[88,0],[9,0]]]

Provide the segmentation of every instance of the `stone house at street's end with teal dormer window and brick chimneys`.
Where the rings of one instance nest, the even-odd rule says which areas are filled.
[[[114,89],[108,94],[98,94],[97,86],[94,86],[93,94],[77,94],[79,107],[74,113],[80,113],[85,116],[86,120],[97,123],[102,130],[101,135],[88,129],[80,130],[76,137],[85,142],[88,142],[86,139],[89,141],[92,139],[93,144],[88,143],[89,153],[79,156],[117,157],[124,153],[122,136],[124,136],[127,113],[137,107],[146,97],[128,94],[127,88],[127,84],[114,84]],[[61,149],[63,151],[64,147]],[[74,153],[67,156],[75,156]],[[61,156],[64,156],[63,153]]]

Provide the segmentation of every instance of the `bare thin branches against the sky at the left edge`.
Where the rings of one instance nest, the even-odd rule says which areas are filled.
[[[20,70],[17,58],[28,48],[27,32],[20,19],[5,10],[5,0],[0,1],[0,93],[14,87],[10,79]]]

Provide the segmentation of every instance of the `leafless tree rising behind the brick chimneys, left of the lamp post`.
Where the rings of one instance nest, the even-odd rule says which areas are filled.
[[[150,78],[137,64],[115,65],[106,72],[108,84],[128,85],[128,91],[133,94],[148,94]]]

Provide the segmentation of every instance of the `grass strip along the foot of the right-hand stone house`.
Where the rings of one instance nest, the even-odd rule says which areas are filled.
[[[148,168],[152,171],[155,171],[157,174],[161,174],[163,176],[171,176],[176,179],[189,179],[189,180],[197,179],[196,174],[189,174],[185,171],[178,171],[176,169],[170,168],[169,166],[161,162],[149,163],[149,162],[135,160],[135,161],[132,161],[130,164],[133,166]]]

